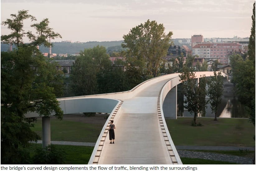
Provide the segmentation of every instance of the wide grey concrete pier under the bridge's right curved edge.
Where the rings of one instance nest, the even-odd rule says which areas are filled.
[[[164,118],[177,119],[177,85],[166,95],[163,103]]]

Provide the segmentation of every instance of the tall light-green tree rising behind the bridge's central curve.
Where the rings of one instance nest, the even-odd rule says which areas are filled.
[[[132,28],[129,34],[124,35],[123,48],[127,48],[128,57],[141,60],[143,68],[147,69],[150,77],[158,75],[159,64],[167,55],[172,32],[164,33],[163,24],[147,20]],[[127,59],[129,61],[129,59]]]

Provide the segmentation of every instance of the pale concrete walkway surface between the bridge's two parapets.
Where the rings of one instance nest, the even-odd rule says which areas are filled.
[[[148,86],[134,98],[123,99],[115,129],[115,144],[104,145],[99,164],[171,164],[159,132],[157,98],[168,80]],[[108,139],[107,139],[108,140]]]

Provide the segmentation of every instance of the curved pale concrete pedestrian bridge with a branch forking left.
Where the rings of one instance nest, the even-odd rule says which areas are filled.
[[[156,77],[125,92],[58,98],[64,114],[110,113],[88,164],[182,164],[165,122],[165,118],[177,119],[178,75]],[[109,143],[110,120],[116,125],[115,144]],[[42,117],[42,125],[45,147],[50,144],[50,117]]]

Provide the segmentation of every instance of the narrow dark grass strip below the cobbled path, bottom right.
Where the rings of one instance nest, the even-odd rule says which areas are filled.
[[[235,164],[230,162],[224,162],[219,160],[206,160],[206,159],[198,159],[198,158],[187,158],[181,157],[180,158],[183,164]]]

